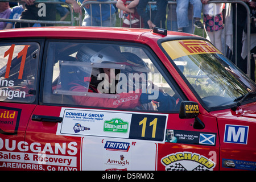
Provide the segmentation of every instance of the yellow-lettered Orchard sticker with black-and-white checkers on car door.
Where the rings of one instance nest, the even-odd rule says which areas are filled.
[[[176,152],[164,156],[166,171],[212,171],[216,164],[207,157],[192,152]]]

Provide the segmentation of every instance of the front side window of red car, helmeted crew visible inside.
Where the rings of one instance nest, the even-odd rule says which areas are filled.
[[[177,111],[182,99],[156,65],[137,44],[49,42],[43,102]]]

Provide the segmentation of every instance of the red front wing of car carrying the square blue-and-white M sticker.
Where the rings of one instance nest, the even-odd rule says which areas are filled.
[[[253,107],[243,106],[231,111],[232,115],[218,117],[221,170],[255,171],[256,127]]]

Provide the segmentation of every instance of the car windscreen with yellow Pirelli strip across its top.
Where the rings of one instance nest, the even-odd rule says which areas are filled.
[[[234,105],[247,93],[256,92],[255,83],[210,43],[183,40],[175,41],[174,45],[164,44],[177,68],[209,109]],[[178,51],[174,53],[173,49]]]

